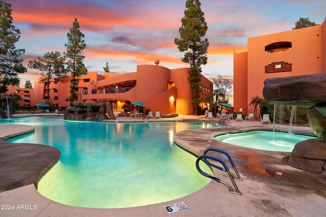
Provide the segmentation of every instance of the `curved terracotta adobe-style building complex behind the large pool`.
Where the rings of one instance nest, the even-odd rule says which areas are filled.
[[[154,114],[156,111],[161,114],[194,114],[192,90],[187,79],[189,68],[170,70],[158,65],[159,61],[155,60],[155,65],[137,66],[136,72],[103,75],[89,72],[82,75],[78,80],[78,101],[110,101],[114,112],[123,111],[124,104],[130,105],[130,109],[137,109],[131,102],[140,101],[146,105],[144,111],[150,109]],[[40,83],[40,78],[35,81],[35,88],[29,89],[33,91],[33,97],[30,97],[31,106],[43,103],[47,98],[47,84]],[[63,109],[70,105],[66,101],[70,96],[70,82],[70,76],[60,82],[50,81],[49,99]],[[208,98],[212,94],[213,83],[203,75],[200,87],[201,98]],[[12,91],[8,91],[10,92]],[[200,105],[209,108],[207,103]]]

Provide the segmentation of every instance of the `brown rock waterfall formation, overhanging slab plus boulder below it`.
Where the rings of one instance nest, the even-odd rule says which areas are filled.
[[[316,140],[295,145],[289,163],[310,170],[326,169],[326,73],[269,78],[263,96],[272,104],[307,108],[309,125]],[[310,151],[307,151],[307,147]]]

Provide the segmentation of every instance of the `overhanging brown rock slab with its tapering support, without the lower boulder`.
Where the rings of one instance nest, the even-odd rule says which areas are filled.
[[[326,73],[268,78],[264,84],[263,96],[269,103],[307,108],[311,129],[326,142]]]

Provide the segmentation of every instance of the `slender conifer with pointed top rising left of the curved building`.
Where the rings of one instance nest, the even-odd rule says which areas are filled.
[[[82,54],[86,47],[84,37],[84,34],[79,30],[77,18],[75,18],[72,28],[69,29],[67,34],[68,44],[65,44],[67,48],[65,56],[68,58],[67,69],[72,77],[70,85],[71,97],[67,99],[70,102],[76,101],[78,97],[76,94],[78,91],[78,77],[87,74],[87,69],[84,65],[85,56]]]

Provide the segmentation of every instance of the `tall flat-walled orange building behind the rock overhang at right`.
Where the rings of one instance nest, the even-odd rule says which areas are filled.
[[[266,78],[326,73],[326,21],[320,25],[248,39],[233,53],[234,112],[253,113]],[[316,93],[318,94],[318,93]]]

